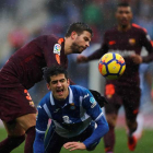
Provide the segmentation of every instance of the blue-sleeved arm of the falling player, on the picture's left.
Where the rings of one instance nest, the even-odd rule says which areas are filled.
[[[48,115],[44,110],[43,106],[38,105],[37,107],[38,110],[38,116],[36,120],[36,137],[34,141],[34,153],[44,153],[44,138],[45,138],[45,132],[47,130],[47,125],[48,125]]]

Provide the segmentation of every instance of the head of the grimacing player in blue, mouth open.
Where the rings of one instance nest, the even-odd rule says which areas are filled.
[[[56,99],[66,99],[69,95],[70,81],[68,72],[62,66],[52,66],[44,69],[44,79],[47,82],[47,87],[52,92]]]

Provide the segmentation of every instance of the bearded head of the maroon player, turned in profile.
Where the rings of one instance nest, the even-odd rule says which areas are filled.
[[[82,22],[76,22],[70,25],[66,34],[66,45],[69,44],[69,54],[81,54],[90,46],[93,31],[90,26]],[[66,46],[67,47],[67,46]]]

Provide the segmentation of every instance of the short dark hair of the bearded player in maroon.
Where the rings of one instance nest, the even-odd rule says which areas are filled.
[[[83,22],[76,22],[73,23],[69,26],[67,33],[66,33],[66,37],[69,37],[71,35],[72,32],[76,32],[78,35],[82,34],[84,31],[87,31],[89,33],[91,33],[91,35],[93,36],[93,31],[92,28],[83,23]]]

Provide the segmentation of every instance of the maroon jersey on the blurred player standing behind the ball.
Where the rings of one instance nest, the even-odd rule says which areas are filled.
[[[106,52],[120,54],[126,60],[126,71],[120,79],[107,81],[107,83],[139,86],[139,64],[136,64],[130,56],[132,54],[140,55],[142,47],[149,51],[149,56],[143,57],[143,62],[153,60],[150,36],[144,28],[132,24],[127,32],[119,32],[117,27],[114,27],[105,33],[102,47],[93,52],[89,60],[99,59]]]

